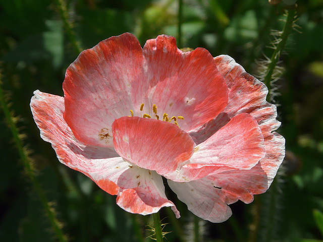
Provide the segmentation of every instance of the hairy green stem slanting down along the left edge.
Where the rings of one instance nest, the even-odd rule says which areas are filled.
[[[19,131],[18,131],[17,126],[16,126],[15,121],[14,121],[14,117],[12,116],[11,111],[10,111],[10,109],[8,107],[8,103],[6,102],[4,90],[2,89],[1,84],[2,83],[1,83],[1,73],[0,73],[0,102],[1,102],[2,108],[4,110],[4,114],[5,114],[5,117],[7,119],[8,126],[9,126],[9,128],[11,130],[12,135],[13,135],[13,138],[14,138],[16,147],[18,149],[20,158],[21,158],[21,160],[23,162],[23,165],[25,167],[25,171],[26,171],[26,173],[28,174],[28,176],[29,176],[29,178],[31,180],[33,188],[36,191],[36,193],[37,193],[37,195],[38,195],[38,197],[40,199],[40,202],[41,202],[42,206],[45,209],[45,212],[46,212],[46,214],[48,216],[48,219],[49,219],[49,221],[51,223],[51,226],[53,227],[59,241],[60,242],[66,242],[67,238],[66,238],[66,236],[64,235],[64,233],[63,233],[63,231],[61,229],[61,225],[60,225],[58,219],[56,218],[55,212],[53,211],[52,207],[50,206],[50,204],[49,204],[49,202],[48,202],[48,200],[46,198],[45,193],[41,189],[41,187],[40,187],[40,185],[38,183],[38,180],[34,175],[31,160],[28,157],[27,150],[23,146],[23,142],[22,142],[22,140],[20,138],[21,135],[19,134]]]

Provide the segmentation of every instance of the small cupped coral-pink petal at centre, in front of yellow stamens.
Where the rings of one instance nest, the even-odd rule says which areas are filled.
[[[169,122],[121,117],[112,125],[115,149],[125,160],[167,176],[194,151],[194,141]]]

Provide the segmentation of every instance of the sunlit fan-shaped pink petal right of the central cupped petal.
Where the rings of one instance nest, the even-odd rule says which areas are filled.
[[[263,136],[256,120],[250,114],[241,113],[196,146],[190,164],[250,169],[264,155]]]

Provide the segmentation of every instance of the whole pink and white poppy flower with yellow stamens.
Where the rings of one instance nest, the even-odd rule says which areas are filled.
[[[265,85],[231,57],[183,52],[171,36],[143,49],[129,33],[103,40],[69,66],[63,90],[34,92],[42,139],[131,213],[172,207],[180,217],[164,176],[194,214],[225,221],[229,204],[268,189],[284,158]]]

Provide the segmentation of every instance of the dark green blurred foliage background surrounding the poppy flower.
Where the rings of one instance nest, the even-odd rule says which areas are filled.
[[[273,2],[281,1],[0,0],[1,101],[7,107],[0,109],[0,241],[59,241],[34,180],[70,241],[152,241],[151,216],[119,208],[115,196],[61,164],[41,140],[29,108],[33,91],[62,96],[66,68],[78,51],[124,32],[142,46],[168,34],[180,48],[229,54],[262,80],[263,60],[274,52],[272,33],[283,29],[284,13],[296,1]],[[233,216],[220,224],[196,218],[169,192],[182,217],[161,210],[166,241],[323,241],[323,1],[297,5],[299,27],[271,84],[287,150],[272,187],[251,204],[231,205]]]

